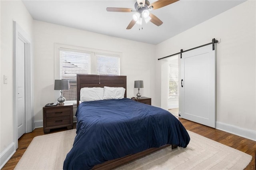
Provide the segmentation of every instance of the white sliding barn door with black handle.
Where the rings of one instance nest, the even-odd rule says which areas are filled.
[[[212,45],[182,53],[179,115],[215,128],[215,50]]]

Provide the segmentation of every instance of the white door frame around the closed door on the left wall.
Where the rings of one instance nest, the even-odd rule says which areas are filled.
[[[25,132],[34,130],[34,100],[33,100],[33,60],[32,60],[32,40],[14,21],[14,61],[13,61],[13,129],[14,144],[18,148],[18,114],[17,114],[17,74],[16,74],[16,53],[17,42],[20,39],[25,44]]]

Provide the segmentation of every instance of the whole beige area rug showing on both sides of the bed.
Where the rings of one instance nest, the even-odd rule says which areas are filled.
[[[120,170],[242,170],[252,156],[188,131],[187,148],[170,147],[118,167]],[[18,162],[16,170],[60,170],[66,154],[72,148],[76,130],[66,130],[35,137]]]

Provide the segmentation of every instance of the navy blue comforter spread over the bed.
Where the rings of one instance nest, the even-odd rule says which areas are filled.
[[[190,141],[186,129],[168,111],[131,99],[83,102],[76,117],[77,135],[64,170],[91,169],[148,148],[186,147]]]

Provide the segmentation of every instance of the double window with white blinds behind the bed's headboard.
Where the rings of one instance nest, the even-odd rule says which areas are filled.
[[[120,55],[59,47],[60,79],[69,80],[63,90],[66,101],[76,101],[76,74],[120,75]]]

